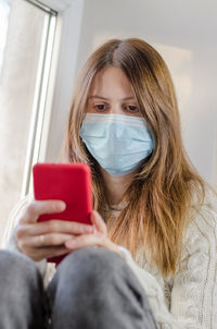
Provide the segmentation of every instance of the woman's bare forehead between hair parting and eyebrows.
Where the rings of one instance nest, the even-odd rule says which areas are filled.
[[[89,90],[89,96],[93,95],[124,98],[133,96],[133,90],[123,70],[110,66],[95,74]]]

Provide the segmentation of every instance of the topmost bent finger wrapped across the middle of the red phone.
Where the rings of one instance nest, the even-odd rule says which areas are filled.
[[[36,222],[43,214],[62,212],[65,206],[62,200],[34,200],[27,206],[21,223]]]

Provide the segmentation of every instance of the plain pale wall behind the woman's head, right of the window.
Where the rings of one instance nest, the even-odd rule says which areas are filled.
[[[216,0],[85,0],[77,70],[113,37],[154,46],[174,77],[186,148],[200,173],[217,179]]]

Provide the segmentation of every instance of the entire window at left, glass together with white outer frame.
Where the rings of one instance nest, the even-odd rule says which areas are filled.
[[[29,191],[31,164],[58,159],[84,12],[84,0],[0,0],[0,15],[2,3],[10,16],[0,74],[0,244],[11,209]]]

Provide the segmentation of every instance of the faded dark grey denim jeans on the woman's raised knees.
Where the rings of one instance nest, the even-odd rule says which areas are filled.
[[[142,287],[114,252],[87,247],[58,266],[47,291],[35,263],[0,252],[0,329],[156,329]]]

